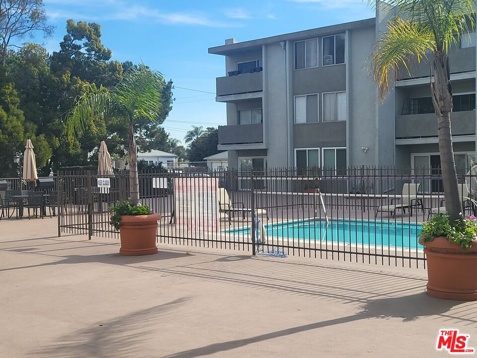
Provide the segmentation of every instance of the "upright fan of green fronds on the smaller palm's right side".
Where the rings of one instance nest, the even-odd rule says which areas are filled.
[[[144,64],[133,67],[123,75],[115,89],[118,105],[128,112],[131,120],[157,120],[161,109],[161,90],[165,86],[162,75]]]

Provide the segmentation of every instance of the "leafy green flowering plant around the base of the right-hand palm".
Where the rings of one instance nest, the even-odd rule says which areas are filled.
[[[449,215],[437,215],[422,223],[420,236],[424,241],[433,241],[444,236],[447,241],[460,245],[464,250],[471,247],[477,234],[477,218],[474,215],[457,220],[451,225]]]

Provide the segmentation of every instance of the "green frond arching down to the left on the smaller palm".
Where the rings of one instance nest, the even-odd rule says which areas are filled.
[[[88,85],[67,114],[66,132],[70,139],[80,137],[86,128],[94,125],[94,118],[102,116],[111,108],[111,92],[95,84]]]

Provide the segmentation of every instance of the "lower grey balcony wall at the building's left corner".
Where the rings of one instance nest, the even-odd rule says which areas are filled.
[[[263,124],[242,124],[219,126],[219,147],[227,146],[232,149],[235,146],[242,149],[246,145],[254,146],[263,143]]]

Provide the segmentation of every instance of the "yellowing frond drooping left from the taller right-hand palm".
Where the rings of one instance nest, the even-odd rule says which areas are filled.
[[[372,63],[373,77],[378,85],[381,101],[394,85],[400,66],[409,72],[411,61],[420,62],[426,58],[429,50],[435,50],[431,29],[400,17],[390,21],[388,30],[382,35],[368,59]]]

